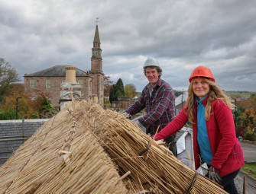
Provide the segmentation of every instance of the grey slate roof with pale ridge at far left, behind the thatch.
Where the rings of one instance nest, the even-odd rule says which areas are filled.
[[[0,120],[0,165],[48,120]]]

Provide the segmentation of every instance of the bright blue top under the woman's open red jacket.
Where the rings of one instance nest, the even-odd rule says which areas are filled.
[[[207,94],[208,95],[208,94]],[[202,101],[207,97],[203,97],[199,100],[199,97],[196,98],[197,101],[197,142],[199,144],[199,150],[202,157],[202,160],[206,164],[211,164],[212,161],[212,150],[209,143],[208,133],[206,129],[206,116],[205,116],[205,107],[203,106]]]

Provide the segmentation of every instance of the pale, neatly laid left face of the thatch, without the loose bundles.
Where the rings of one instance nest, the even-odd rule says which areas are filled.
[[[127,192],[115,165],[83,126],[83,116],[68,109],[21,145],[0,167],[0,177],[0,193]]]

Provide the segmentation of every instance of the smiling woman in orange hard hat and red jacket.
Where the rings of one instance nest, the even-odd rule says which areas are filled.
[[[205,162],[209,166],[206,177],[220,183],[225,191],[238,193],[234,179],[244,165],[245,157],[235,137],[233,105],[215,84],[209,68],[195,68],[189,81],[188,98],[183,110],[157,133],[155,140],[168,138],[189,120],[193,123],[196,169]]]

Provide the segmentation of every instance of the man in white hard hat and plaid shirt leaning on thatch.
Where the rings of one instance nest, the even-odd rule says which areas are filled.
[[[136,100],[131,107],[125,110],[124,115],[131,115],[140,112],[146,108],[146,114],[134,119],[138,127],[147,134],[154,135],[161,129],[164,129],[169,122],[175,117],[175,98],[173,88],[162,80],[162,69],[154,58],[148,58],[144,62],[144,75],[149,83],[144,87],[141,96]],[[167,138],[164,142],[167,143],[170,151],[177,156],[177,148],[175,141],[176,134]]]

